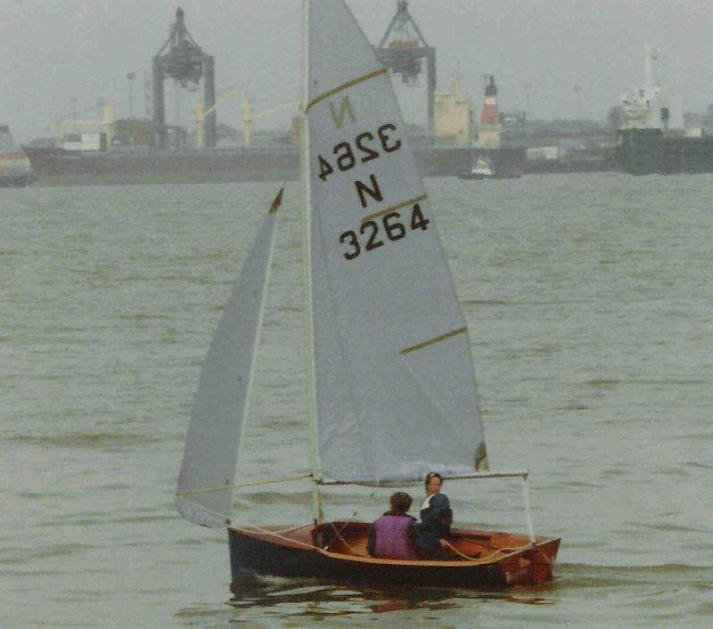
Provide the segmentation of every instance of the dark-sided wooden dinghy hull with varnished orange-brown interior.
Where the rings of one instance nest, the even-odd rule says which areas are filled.
[[[351,584],[502,589],[553,579],[559,539],[454,529],[445,560],[381,560],[366,554],[365,522],[319,527],[228,528],[231,589],[256,576],[317,577]],[[470,559],[472,558],[472,559]]]

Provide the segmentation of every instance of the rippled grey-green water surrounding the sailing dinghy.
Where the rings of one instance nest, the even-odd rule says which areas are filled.
[[[267,580],[172,506],[201,361],[276,184],[0,190],[0,626],[703,627],[713,617],[713,176],[427,179],[491,467],[531,470],[553,584]],[[240,482],[307,470],[299,190],[288,185]],[[390,490],[327,492],[370,520]],[[421,490],[410,488],[419,502]],[[520,486],[444,486],[524,532]],[[304,482],[234,520],[300,524]]]

